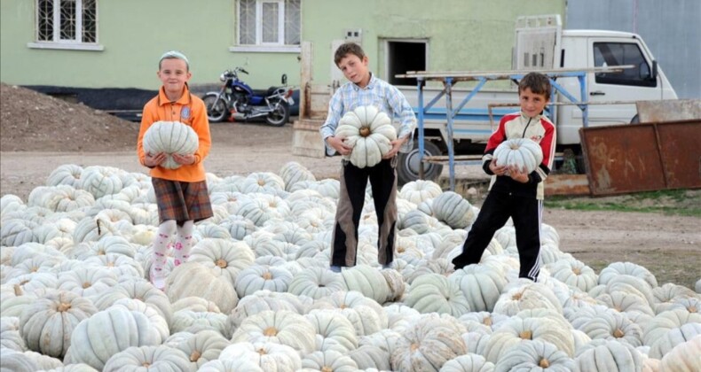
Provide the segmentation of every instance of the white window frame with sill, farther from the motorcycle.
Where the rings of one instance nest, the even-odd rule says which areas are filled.
[[[59,49],[59,50],[105,50],[98,43],[98,0],[95,0],[95,43],[83,43],[83,0],[75,0],[75,39],[61,39],[61,0],[53,1],[53,40],[39,41],[39,9],[35,8],[35,42],[27,43],[32,49]],[[35,1],[35,6],[38,3]]]

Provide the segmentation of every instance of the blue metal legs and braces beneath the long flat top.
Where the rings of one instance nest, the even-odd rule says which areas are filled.
[[[566,71],[566,72],[541,72],[542,74],[545,74],[549,79],[550,83],[553,86],[553,91],[550,97],[550,104],[549,105],[549,112],[555,112],[555,105],[552,105],[555,103],[555,95],[556,92],[560,92],[563,97],[566,97],[569,99],[572,103],[582,103],[582,105],[577,105],[579,109],[583,112],[582,113],[582,124],[584,125],[585,128],[588,127],[589,125],[589,108],[587,105],[587,71]],[[418,107],[417,107],[417,128],[419,131],[419,177],[422,179],[423,178],[423,151],[424,151],[424,146],[423,146],[423,140],[424,140],[424,119],[427,116],[427,114],[431,117],[439,117],[438,112],[428,112],[433,105],[436,105],[438,100],[445,95],[445,113],[444,117],[447,120],[447,135],[448,135],[448,141],[447,141],[447,148],[448,148],[448,167],[449,167],[449,173],[450,173],[450,190],[454,191],[455,190],[455,152],[453,150],[453,120],[458,119],[458,120],[474,120],[474,115],[473,118],[469,118],[470,113],[469,112],[461,112],[462,107],[468,104],[469,100],[472,99],[477,95],[477,92],[479,92],[483,87],[484,84],[486,84],[487,81],[492,81],[492,80],[515,80],[519,81],[521,80],[524,75],[527,74],[527,72],[524,73],[517,73],[517,74],[476,74],[470,76],[468,75],[460,75],[456,74],[455,76],[441,76],[441,77],[429,77],[428,80],[439,80],[443,81],[444,84],[444,89],[438,92],[437,96],[431,99],[428,105],[424,106],[423,105],[423,87],[425,86],[425,81],[427,80],[426,77],[421,76],[421,74],[417,74],[416,76],[412,76],[416,79],[416,89],[418,90]],[[579,81],[579,95],[581,97],[580,100],[575,98],[574,96],[571,95],[570,92],[568,92],[566,89],[563,88],[562,85],[558,84],[557,81],[555,81],[555,78],[558,77],[576,77],[577,80]],[[474,89],[472,89],[469,92],[469,95],[465,97],[460,105],[458,105],[455,110],[453,110],[453,85],[457,81],[479,81],[477,85],[475,86]],[[460,162],[460,164],[463,163],[469,163],[469,162]]]

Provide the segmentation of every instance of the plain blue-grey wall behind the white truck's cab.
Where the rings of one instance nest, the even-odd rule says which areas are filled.
[[[569,0],[566,28],[634,32],[680,98],[701,98],[701,1]]]

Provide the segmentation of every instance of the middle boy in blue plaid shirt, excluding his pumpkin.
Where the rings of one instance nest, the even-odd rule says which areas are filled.
[[[327,147],[327,155],[336,152],[348,155],[352,149],[344,138],[334,135],[343,114],[358,106],[374,105],[390,118],[395,114],[401,120],[398,138],[391,150],[374,167],[358,168],[343,160],[341,190],[336,206],[330,267],[340,272],[341,267],[353,267],[358,256],[358,223],[365,202],[367,181],[373,190],[375,213],[379,225],[377,250],[382,267],[390,267],[394,260],[397,230],[397,153],[408,152],[413,146],[416,118],[411,105],[399,89],[382,81],[368,69],[368,58],[356,43],[345,43],[335,51],[334,62],[349,82],[336,90],[328,105],[327,120],[319,132]]]

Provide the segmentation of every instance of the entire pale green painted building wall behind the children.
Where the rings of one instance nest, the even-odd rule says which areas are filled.
[[[167,4],[167,5],[166,5]],[[196,6],[193,6],[196,5]],[[255,88],[299,84],[298,53],[232,52],[234,0],[98,0],[102,51],[40,50],[35,2],[0,3],[0,80],[20,85],[156,89],[165,50],[191,60],[193,84],[217,83],[224,68],[245,66]],[[383,38],[428,39],[430,70],[508,69],[519,15],[565,12],[565,0],[302,0],[302,39],[313,45],[313,78],[330,82],[331,43],[345,28],[363,30],[371,69],[385,72]]]

